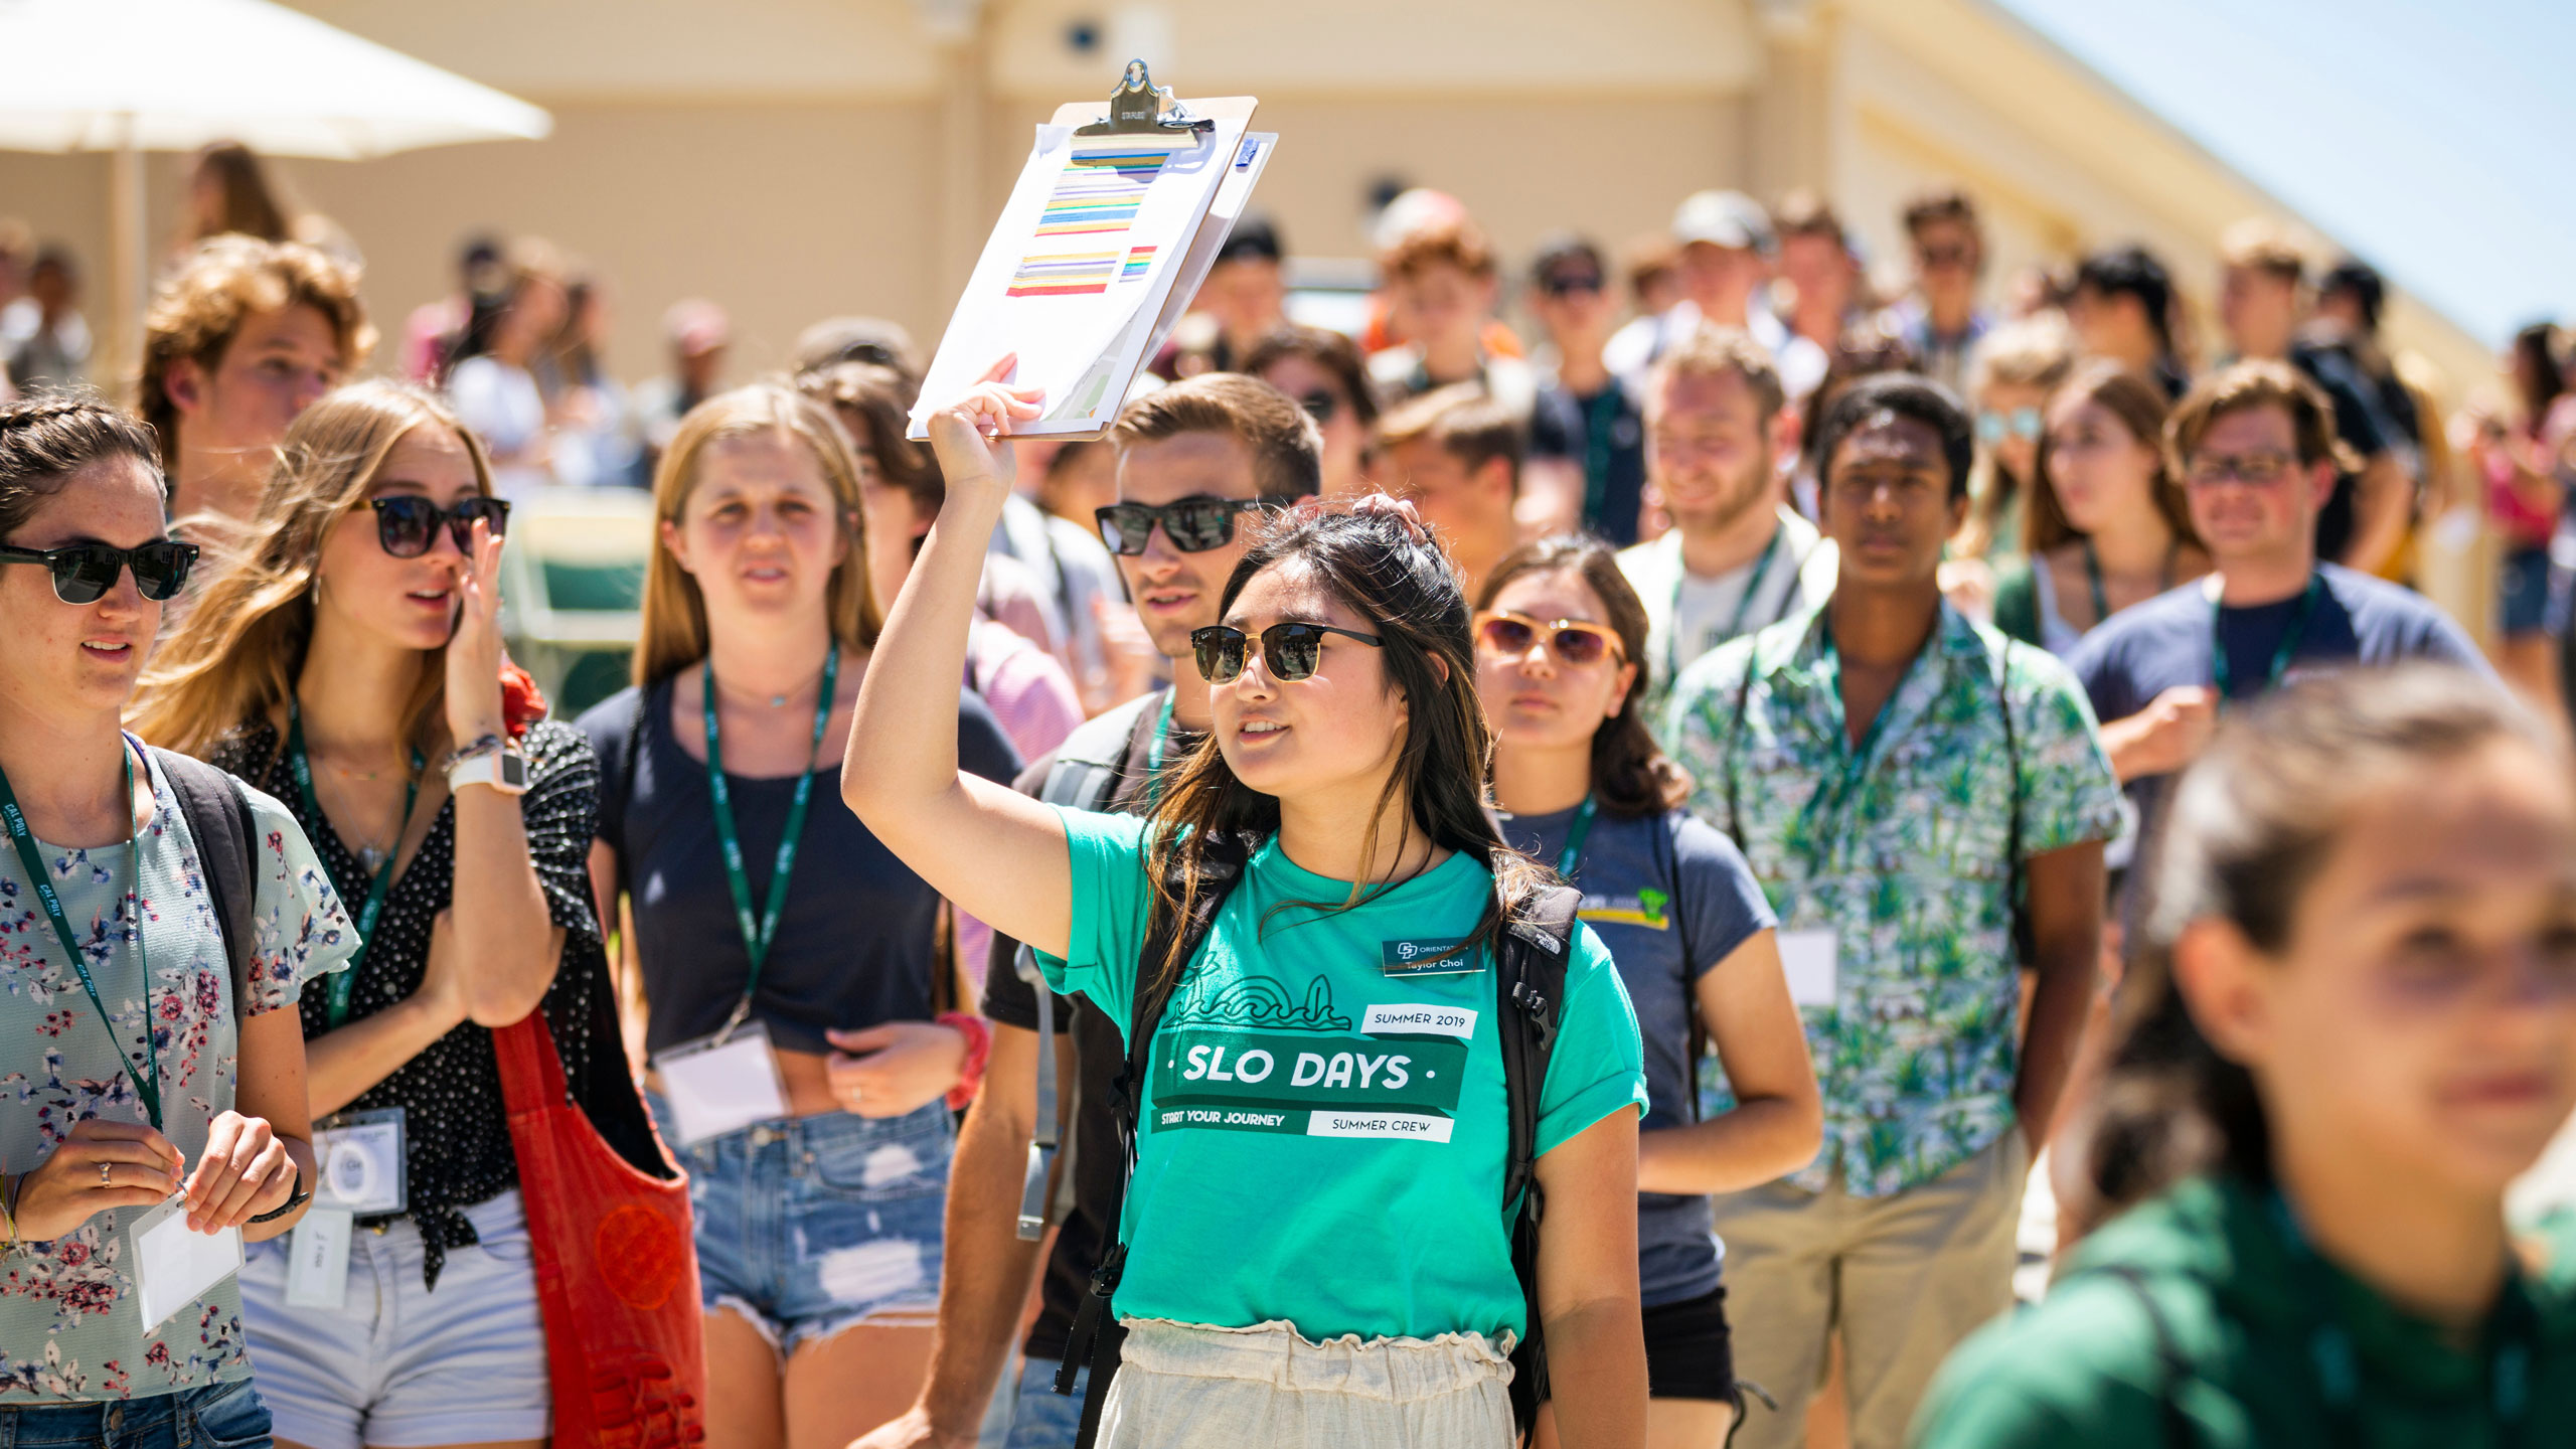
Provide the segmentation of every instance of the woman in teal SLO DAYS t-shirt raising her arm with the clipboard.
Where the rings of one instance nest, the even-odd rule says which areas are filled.
[[[999,382],[933,413],[948,503],[860,691],[842,797],[1041,951],[1048,985],[1123,1034],[1159,1021],[1103,1266],[1126,1338],[1100,1444],[1499,1449],[1510,1341],[1540,1328],[1564,1441],[1641,1444],[1636,1024],[1577,923],[1548,1070],[1510,1096],[1522,1034],[1497,1011],[1494,944],[1507,918],[1528,928],[1546,874],[1479,799],[1455,572],[1396,503],[1291,516],[1193,637],[1213,732],[1149,817],[961,776],[922,683],[963,660],[1010,490],[1010,446],[981,431],[1036,415]],[[1182,959],[1185,913],[1218,890]],[[1499,1191],[1515,1109],[1546,1199],[1538,1323]]]

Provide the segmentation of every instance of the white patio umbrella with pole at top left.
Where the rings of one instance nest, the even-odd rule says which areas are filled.
[[[0,0],[0,150],[113,152],[113,345],[144,302],[142,152],[363,160],[538,139],[554,119],[268,0]]]

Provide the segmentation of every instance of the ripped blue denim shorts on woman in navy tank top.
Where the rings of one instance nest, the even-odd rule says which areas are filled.
[[[677,1140],[670,1104],[647,1101],[662,1140]],[[781,1354],[866,1318],[927,1318],[953,1150],[938,1101],[909,1116],[786,1116],[672,1147],[698,1217],[706,1310],[739,1312]]]

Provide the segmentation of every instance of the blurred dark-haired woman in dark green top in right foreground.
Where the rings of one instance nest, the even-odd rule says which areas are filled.
[[[2120,1217],[1963,1343],[1919,1449],[2576,1441],[2566,737],[2442,665],[2231,717],[2166,812],[2089,1173]]]

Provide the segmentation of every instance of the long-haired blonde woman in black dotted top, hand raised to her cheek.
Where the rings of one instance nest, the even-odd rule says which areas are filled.
[[[544,1008],[574,1101],[636,1171],[670,1173],[590,910],[598,763],[502,686],[505,523],[440,402],[332,392],[286,431],[245,552],[144,681],[139,727],[286,799],[366,938],[304,995],[307,1085],[317,1119],[399,1122],[402,1207],[361,1212],[345,1261],[317,1263],[337,1307],[289,1302],[283,1245],[242,1269],[278,1436],[312,1449],[549,1434],[492,1029]]]

